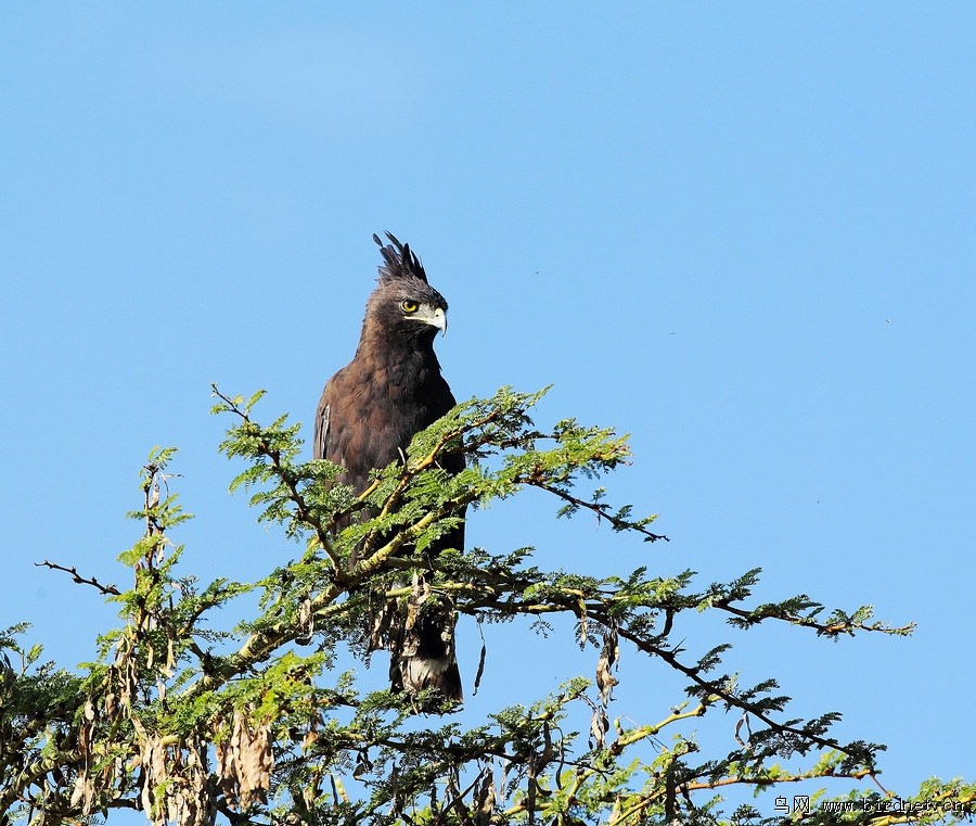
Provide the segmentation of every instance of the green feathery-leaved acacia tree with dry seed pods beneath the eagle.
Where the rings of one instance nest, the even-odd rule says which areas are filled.
[[[653,517],[612,507],[601,488],[579,491],[581,480],[628,461],[627,442],[613,431],[573,420],[538,430],[529,411],[541,393],[502,390],[459,405],[356,496],[335,483],[335,466],[299,460],[298,424],[255,420],[260,393],[246,402],[216,387],[215,395],[215,412],[230,418],[221,449],[244,463],[231,490],[249,491],[258,519],[282,525],[304,551],[253,584],[181,576],[183,547],[170,537],[189,516],[169,493],[174,449],[155,449],[142,470],[143,507],[130,514],[144,533],[120,557],[134,571],[132,587],[120,592],[44,562],[118,603],[123,624],[99,638],[95,661],[77,673],[59,670],[42,662],[39,647],[20,643],[26,626],[0,634],[2,824],[93,823],[130,809],[158,826],[884,825],[959,822],[974,810],[976,786],[961,779],[929,780],[895,806],[894,792],[877,783],[883,746],[835,739],[835,712],[789,717],[774,679],[739,685],[723,671],[728,645],[694,656],[672,638],[683,613],[718,614],[739,628],[787,623],[827,638],[904,635],[910,626],[874,621],[866,607],[827,613],[805,595],[756,605],[758,570],[703,589],[691,571],[596,579],[544,570],[531,548],[425,552],[465,507],[530,487],[555,497],[558,516],[590,511],[621,541],[665,541],[652,532]],[[450,476],[438,457],[457,449],[468,465]],[[260,595],[257,611],[222,625],[249,592]],[[458,707],[435,692],[368,691],[355,672],[337,673],[347,651],[369,658],[390,611],[409,625],[425,611],[450,610],[487,623],[569,615],[572,638],[547,644],[590,647],[595,676],[464,727]],[[654,724],[628,725],[616,713],[622,647],[647,673],[671,670],[686,682]],[[484,649],[477,681],[483,665]],[[570,727],[580,712],[583,734]],[[736,748],[704,755],[693,729],[722,712],[739,721]],[[783,767],[789,757],[805,767]],[[847,779],[842,797],[829,790],[806,811],[765,818],[749,806],[723,811],[717,793],[766,790],[769,814],[769,798],[809,778]],[[850,791],[851,781],[865,788]]]

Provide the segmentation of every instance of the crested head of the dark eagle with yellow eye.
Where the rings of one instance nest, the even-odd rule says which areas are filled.
[[[367,305],[367,323],[371,320],[387,334],[394,331],[408,339],[433,342],[437,331],[447,332],[447,302],[427,283],[427,275],[416,254],[389,232],[390,243],[378,237],[383,265],[378,287]]]

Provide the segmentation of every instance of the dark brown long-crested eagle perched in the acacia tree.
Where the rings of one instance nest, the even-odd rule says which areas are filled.
[[[351,485],[357,494],[371,484],[373,469],[402,460],[413,436],[455,405],[434,353],[437,333],[447,332],[447,302],[427,283],[409,244],[389,232],[386,238],[389,243],[384,244],[373,236],[383,263],[367,302],[356,355],[325,383],[314,419],[314,458],[342,467],[336,482]],[[446,453],[439,465],[457,474],[464,469],[464,456]],[[463,547],[462,521],[428,554],[433,558]],[[391,689],[415,694],[435,688],[444,699],[460,702],[453,606],[441,598],[413,609],[394,609],[388,618]]]

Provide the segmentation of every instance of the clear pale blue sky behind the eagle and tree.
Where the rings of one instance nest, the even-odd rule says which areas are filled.
[[[972,778],[974,25],[968,3],[3,4],[0,626],[90,656],[114,609],[34,563],[128,582],[157,444],[197,514],[188,572],[295,552],[227,495],[209,385],[310,422],[388,229],[450,303],[455,395],[554,383],[540,422],[631,433],[611,495],[671,537],[529,495],[473,543],[703,586],[761,567],[762,600],[917,622],[834,645],[705,621],[685,645],[728,638],[796,715],[843,711],[839,737],[888,744],[889,786]],[[489,628],[473,714],[595,662],[527,633]],[[638,722],[683,685],[626,650],[621,679]],[[711,725],[724,753],[734,722]]]

